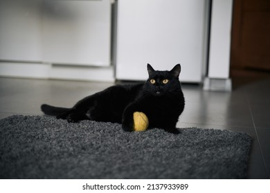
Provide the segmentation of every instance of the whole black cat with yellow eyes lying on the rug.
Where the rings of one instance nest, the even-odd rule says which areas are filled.
[[[181,65],[170,71],[154,70],[147,64],[149,79],[134,85],[114,85],[78,101],[73,108],[57,108],[42,105],[42,111],[69,123],[87,119],[122,123],[125,131],[133,131],[134,112],[143,112],[149,120],[149,128],[162,128],[179,133],[176,128],[185,99],[179,82]]]

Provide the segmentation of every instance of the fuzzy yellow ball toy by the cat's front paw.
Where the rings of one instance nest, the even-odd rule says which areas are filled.
[[[148,128],[148,118],[143,112],[134,112],[133,114],[134,120],[134,131],[143,132]]]

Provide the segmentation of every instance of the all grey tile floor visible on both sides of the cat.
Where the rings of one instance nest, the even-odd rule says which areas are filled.
[[[71,107],[112,83],[0,78],[0,119],[39,114],[42,103]],[[183,84],[186,109],[179,128],[215,128],[248,132],[253,137],[249,179],[270,179],[270,79],[242,85],[233,92],[206,92]]]

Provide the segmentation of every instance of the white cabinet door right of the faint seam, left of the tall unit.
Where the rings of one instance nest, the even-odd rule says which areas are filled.
[[[44,1],[43,56],[49,63],[109,66],[111,2]]]

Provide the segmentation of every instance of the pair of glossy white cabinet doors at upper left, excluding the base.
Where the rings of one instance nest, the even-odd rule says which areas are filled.
[[[0,1],[0,60],[111,64],[111,1]]]

